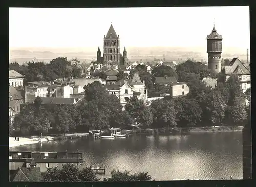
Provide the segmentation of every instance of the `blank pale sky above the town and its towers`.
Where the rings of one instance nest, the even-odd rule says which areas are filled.
[[[9,8],[9,47],[102,48],[111,23],[120,47],[204,47],[214,24],[226,47],[250,45],[246,6]]]

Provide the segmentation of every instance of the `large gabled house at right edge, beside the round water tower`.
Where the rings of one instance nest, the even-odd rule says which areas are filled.
[[[245,92],[251,87],[251,73],[239,58],[233,58],[231,62],[225,64],[223,70],[226,76],[226,81],[231,74],[238,76],[240,81],[240,89]]]

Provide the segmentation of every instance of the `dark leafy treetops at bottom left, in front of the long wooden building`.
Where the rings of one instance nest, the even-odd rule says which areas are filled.
[[[79,170],[77,165],[64,164],[61,169],[48,168],[44,173],[42,181],[44,182],[83,182],[98,181],[96,173],[91,168]]]

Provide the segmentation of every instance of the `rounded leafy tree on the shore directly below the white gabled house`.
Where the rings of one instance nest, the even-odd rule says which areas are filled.
[[[146,109],[146,105],[138,97],[133,96],[127,100],[124,109],[131,115],[134,119],[134,127],[136,123],[142,125],[148,125],[152,122],[152,116],[150,115],[150,110]]]

